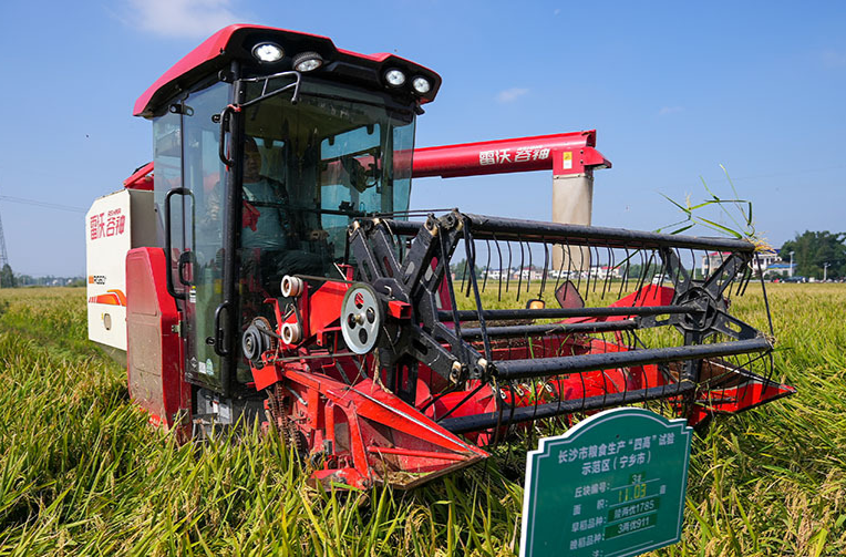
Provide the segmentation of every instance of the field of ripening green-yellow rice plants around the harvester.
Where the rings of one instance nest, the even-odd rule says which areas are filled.
[[[693,442],[662,556],[846,554],[846,286],[773,285],[790,399]],[[733,311],[765,327],[760,292]],[[524,444],[407,493],[321,493],[272,436],[178,446],[86,340],[84,289],[0,290],[0,556],[514,555]]]

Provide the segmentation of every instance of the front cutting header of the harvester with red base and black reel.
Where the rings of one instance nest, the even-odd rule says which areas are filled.
[[[461,280],[448,270],[456,248]],[[721,264],[694,279],[682,259],[713,250]],[[276,306],[275,333],[254,322],[245,351],[257,388],[274,386],[278,425],[324,457],[316,478],[407,487],[485,456],[454,434],[484,446],[513,425],[632,403],[699,424],[792,393],[768,379],[772,338],[728,311],[729,295],[751,280],[754,250],[457,210],[424,223],[359,219],[349,239],[357,269],[341,267],[343,280],[286,277],[291,305]],[[607,265],[574,269],[587,254]],[[553,292],[559,308],[536,307]],[[504,296],[529,303],[486,308]],[[462,298],[472,309],[458,309]],[[660,328],[677,338],[650,334]]]

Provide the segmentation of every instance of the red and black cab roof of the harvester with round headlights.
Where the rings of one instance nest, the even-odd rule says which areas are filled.
[[[252,47],[268,41],[282,47],[286,55],[278,62],[259,64],[252,58]],[[441,86],[441,76],[432,70],[390,53],[360,54],[338,49],[327,37],[270,27],[235,24],[203,41],[158,78],[135,101],[133,114],[153,116],[175,95],[221,70],[228,70],[234,60],[241,61],[247,71],[270,74],[290,70],[291,58],[301,52],[317,52],[324,60],[324,65],[317,70],[316,74],[329,74],[333,80],[341,82],[388,90],[398,96],[416,99],[421,104],[433,101]],[[385,84],[384,72],[394,68],[406,73],[409,79],[405,87],[389,87]],[[432,84],[429,93],[412,95],[409,84],[416,75],[429,79]]]

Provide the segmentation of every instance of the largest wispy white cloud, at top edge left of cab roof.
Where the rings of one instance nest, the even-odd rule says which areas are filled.
[[[131,21],[165,37],[203,39],[241,20],[230,4],[231,0],[130,0]]]

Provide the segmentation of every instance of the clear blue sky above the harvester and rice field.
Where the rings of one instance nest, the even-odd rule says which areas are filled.
[[[84,214],[43,204],[86,209],[148,162],[135,100],[235,22],[439,72],[417,146],[596,128],[613,162],[596,175],[596,225],[678,220],[661,194],[702,200],[701,179],[730,196],[722,164],[775,246],[846,230],[844,2],[10,0],[0,217],[16,272],[84,275]],[[550,184],[546,172],[425,178],[412,206],[549,219]]]

